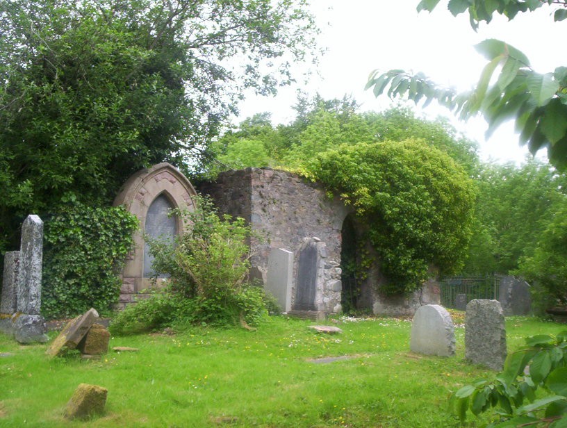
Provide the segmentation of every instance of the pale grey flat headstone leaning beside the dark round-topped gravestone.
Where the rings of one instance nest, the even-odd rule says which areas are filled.
[[[291,283],[293,279],[293,252],[274,248],[268,257],[268,275],[265,289],[276,298],[284,312],[291,309]]]

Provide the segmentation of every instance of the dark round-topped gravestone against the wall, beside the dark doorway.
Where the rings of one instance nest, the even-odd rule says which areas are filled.
[[[317,286],[317,244],[310,244],[299,253],[297,265],[297,281],[295,282],[296,311],[315,311],[315,289]]]

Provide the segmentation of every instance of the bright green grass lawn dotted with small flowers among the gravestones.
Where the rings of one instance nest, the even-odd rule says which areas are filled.
[[[18,345],[0,335],[0,426],[459,427],[448,396],[495,372],[464,361],[464,313],[453,314],[452,358],[411,353],[411,321],[394,318],[327,321],[343,330],[338,335],[279,316],[255,331],[193,327],[114,337],[111,349],[138,352],[111,350],[88,361],[49,359],[49,343]],[[526,336],[565,329],[536,318],[506,322],[509,352]],[[81,383],[108,388],[106,411],[67,421],[63,409]],[[471,415],[464,426],[481,422]]]

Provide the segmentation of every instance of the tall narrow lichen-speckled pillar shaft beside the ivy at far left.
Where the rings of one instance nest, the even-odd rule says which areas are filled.
[[[40,315],[43,256],[43,222],[37,215],[28,215],[22,224],[19,247],[17,311]]]

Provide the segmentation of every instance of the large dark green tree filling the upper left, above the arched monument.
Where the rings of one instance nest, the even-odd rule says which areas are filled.
[[[0,249],[29,212],[195,163],[245,88],[293,80],[315,32],[304,0],[1,2]]]

